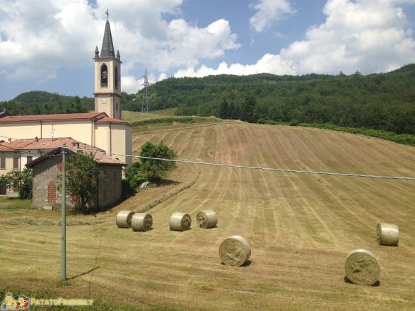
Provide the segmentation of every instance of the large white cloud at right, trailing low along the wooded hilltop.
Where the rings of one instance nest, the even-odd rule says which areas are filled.
[[[278,2],[278,1],[276,1]],[[255,64],[204,65],[177,71],[175,76],[212,74],[363,74],[397,69],[415,62],[415,40],[399,4],[415,0],[328,0],[326,20],[279,54],[265,54]]]

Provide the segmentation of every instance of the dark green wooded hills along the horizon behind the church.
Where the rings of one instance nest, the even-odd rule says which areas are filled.
[[[168,78],[149,88],[151,110],[247,122],[335,124],[415,134],[415,64],[387,74]],[[141,110],[143,93],[122,93],[122,109]],[[92,98],[30,92],[0,102],[12,115],[86,112]]]

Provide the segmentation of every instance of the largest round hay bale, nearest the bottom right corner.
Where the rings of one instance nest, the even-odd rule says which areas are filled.
[[[358,249],[349,252],[344,270],[352,283],[360,285],[373,285],[380,276],[378,259],[368,250]]]

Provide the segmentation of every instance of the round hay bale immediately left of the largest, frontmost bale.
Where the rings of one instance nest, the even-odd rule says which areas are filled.
[[[240,235],[232,235],[223,240],[219,247],[219,257],[228,266],[242,266],[251,256],[250,243]]]

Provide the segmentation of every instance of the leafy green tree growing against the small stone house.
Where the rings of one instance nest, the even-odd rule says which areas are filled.
[[[103,178],[93,153],[69,153],[66,161],[66,191],[78,211],[96,209],[98,180]]]

